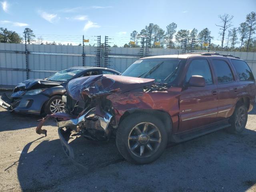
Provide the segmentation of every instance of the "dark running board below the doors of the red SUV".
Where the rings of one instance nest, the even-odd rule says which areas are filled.
[[[207,126],[205,128],[200,128],[199,130],[191,130],[191,131],[187,131],[187,132],[182,132],[182,133],[177,133],[177,134],[172,134],[171,136],[171,141],[175,142],[175,143],[179,143],[179,142],[184,142],[187,140],[191,140],[224,128],[227,128],[231,126],[231,124],[212,124],[211,126]]]

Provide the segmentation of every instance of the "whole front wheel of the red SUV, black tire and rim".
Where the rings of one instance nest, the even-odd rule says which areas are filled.
[[[116,133],[120,154],[134,164],[148,164],[159,158],[167,141],[167,131],[162,121],[146,113],[127,116]]]

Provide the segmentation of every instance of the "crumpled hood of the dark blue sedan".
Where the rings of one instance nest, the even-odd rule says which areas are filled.
[[[45,88],[45,87],[54,87],[62,84],[62,82],[53,82],[53,81],[48,81],[48,80],[43,80],[43,79],[28,79],[25,80],[22,83],[19,83],[17,85],[18,88],[28,90],[31,88]]]

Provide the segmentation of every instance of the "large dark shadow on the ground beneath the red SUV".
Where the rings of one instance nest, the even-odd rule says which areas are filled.
[[[256,132],[240,135],[224,130],[170,145],[148,165],[133,165],[120,156],[115,142],[78,137],[70,145],[78,170],[62,151],[60,141],[43,141],[33,151],[25,146],[18,179],[23,191],[245,191],[256,184]],[[40,139],[40,138],[39,138]]]

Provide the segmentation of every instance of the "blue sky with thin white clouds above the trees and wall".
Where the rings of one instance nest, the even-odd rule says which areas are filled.
[[[220,40],[219,14],[233,15],[232,24],[245,21],[256,11],[256,0],[0,0],[0,26],[21,34],[25,27],[44,39],[60,36],[108,35],[128,39],[150,22],[166,30],[171,22],[178,30],[208,27],[214,40]],[[48,36],[46,36],[48,35]],[[57,38],[56,38],[57,39]],[[68,40],[67,40],[68,41]],[[117,41],[117,40],[116,40]]]

